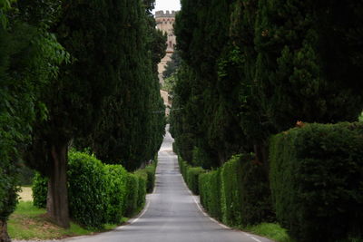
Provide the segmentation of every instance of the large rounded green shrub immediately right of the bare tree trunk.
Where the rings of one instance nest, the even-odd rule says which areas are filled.
[[[68,157],[70,216],[84,227],[102,227],[107,222],[107,182],[111,179],[93,156],[71,151]]]

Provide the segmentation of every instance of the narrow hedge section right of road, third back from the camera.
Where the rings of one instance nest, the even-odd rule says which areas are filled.
[[[201,174],[199,189],[203,208],[211,217],[221,221],[221,169]]]

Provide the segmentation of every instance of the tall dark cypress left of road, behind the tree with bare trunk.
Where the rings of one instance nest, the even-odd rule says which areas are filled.
[[[127,10],[132,26],[123,30],[120,41],[131,45],[121,53],[120,82],[103,102],[103,119],[93,134],[77,141],[81,148],[91,147],[103,162],[121,163],[128,170],[154,158],[164,133],[156,67],[165,54],[166,40],[155,29],[151,10],[152,5],[146,10],[140,5]]]

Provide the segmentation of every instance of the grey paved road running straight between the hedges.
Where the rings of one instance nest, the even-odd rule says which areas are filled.
[[[166,133],[159,151],[156,188],[148,195],[142,216],[131,224],[70,242],[270,242],[271,240],[221,227],[206,217],[182,181],[172,136]]]

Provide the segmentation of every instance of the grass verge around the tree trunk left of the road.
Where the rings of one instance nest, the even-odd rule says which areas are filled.
[[[71,223],[69,229],[54,225],[46,217],[44,208],[35,208],[31,201],[20,201],[15,212],[8,221],[9,236],[14,239],[55,239],[64,237],[93,235],[111,230],[118,225],[104,225],[103,229],[85,229]],[[123,218],[123,223],[128,218]]]

